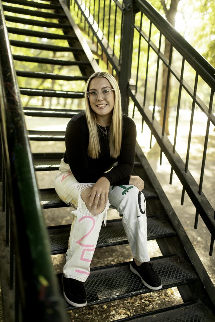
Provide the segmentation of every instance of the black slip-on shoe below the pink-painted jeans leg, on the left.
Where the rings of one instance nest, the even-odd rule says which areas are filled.
[[[81,308],[87,304],[87,297],[83,282],[80,282],[77,279],[68,279],[62,275],[62,284],[64,298],[69,304],[78,308]]]

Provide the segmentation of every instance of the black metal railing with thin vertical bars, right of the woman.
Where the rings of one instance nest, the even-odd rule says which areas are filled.
[[[211,234],[210,255],[215,238],[215,213],[202,192],[210,126],[215,126],[213,94],[215,90],[214,68],[145,0],[72,0],[70,11],[80,29],[92,43],[92,51],[100,58],[101,69],[107,69],[119,82],[122,108],[128,113],[133,104],[132,116],[139,113],[161,148],[160,164],[164,153],[171,165],[170,184],[173,171],[182,184],[181,204],[184,194],[196,208],[194,228],[200,214]],[[75,14],[74,14],[75,12]],[[169,46],[168,56],[164,47]],[[173,59],[174,57],[174,59]],[[152,61],[152,63],[150,63]],[[161,85],[161,63],[166,69],[166,79]],[[153,71],[151,70],[153,66]],[[187,70],[194,75],[193,84],[187,79]],[[154,73],[151,76],[151,73]],[[171,84],[173,84],[171,86]],[[201,99],[200,87],[208,94]],[[172,142],[165,133],[168,121],[169,101],[175,90],[175,125]],[[158,96],[163,92],[162,118],[159,124],[156,108]],[[188,143],[186,158],[177,153],[178,126],[183,100],[190,100]],[[129,105],[130,104],[130,105]],[[150,108],[151,109],[150,109]],[[204,147],[199,174],[199,184],[189,171],[189,156],[194,112],[201,111],[207,118]]]

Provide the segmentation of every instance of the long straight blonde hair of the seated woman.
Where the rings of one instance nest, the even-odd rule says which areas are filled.
[[[89,129],[89,145],[87,154],[89,157],[93,159],[97,159],[99,157],[99,153],[101,152],[100,149],[100,142],[99,142],[99,133],[98,127],[96,123],[96,114],[91,109],[89,98],[87,96],[86,91],[88,90],[90,82],[94,78],[106,78],[109,83],[111,84],[112,88],[114,89],[114,107],[112,113],[112,120],[109,128],[109,150],[110,156],[112,158],[117,158],[120,154],[121,143],[122,143],[122,107],[121,107],[121,95],[119,86],[114,79],[114,77],[106,72],[96,72],[93,73],[87,83],[85,89],[85,106],[86,106],[86,120],[87,126]]]

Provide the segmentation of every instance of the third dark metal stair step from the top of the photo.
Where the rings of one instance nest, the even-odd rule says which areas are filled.
[[[56,28],[56,29],[68,29],[72,28],[70,24],[60,24],[60,23],[54,23],[54,22],[47,22],[47,21],[41,21],[41,20],[34,20],[34,19],[26,19],[26,18],[20,18],[20,17],[13,17],[5,14],[5,20],[10,22],[15,22],[18,24],[28,24],[33,26],[40,26],[40,27],[46,27],[46,28]]]

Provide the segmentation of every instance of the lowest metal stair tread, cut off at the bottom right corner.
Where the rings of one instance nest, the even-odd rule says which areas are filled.
[[[186,303],[115,322],[214,322],[214,315],[202,302]]]

